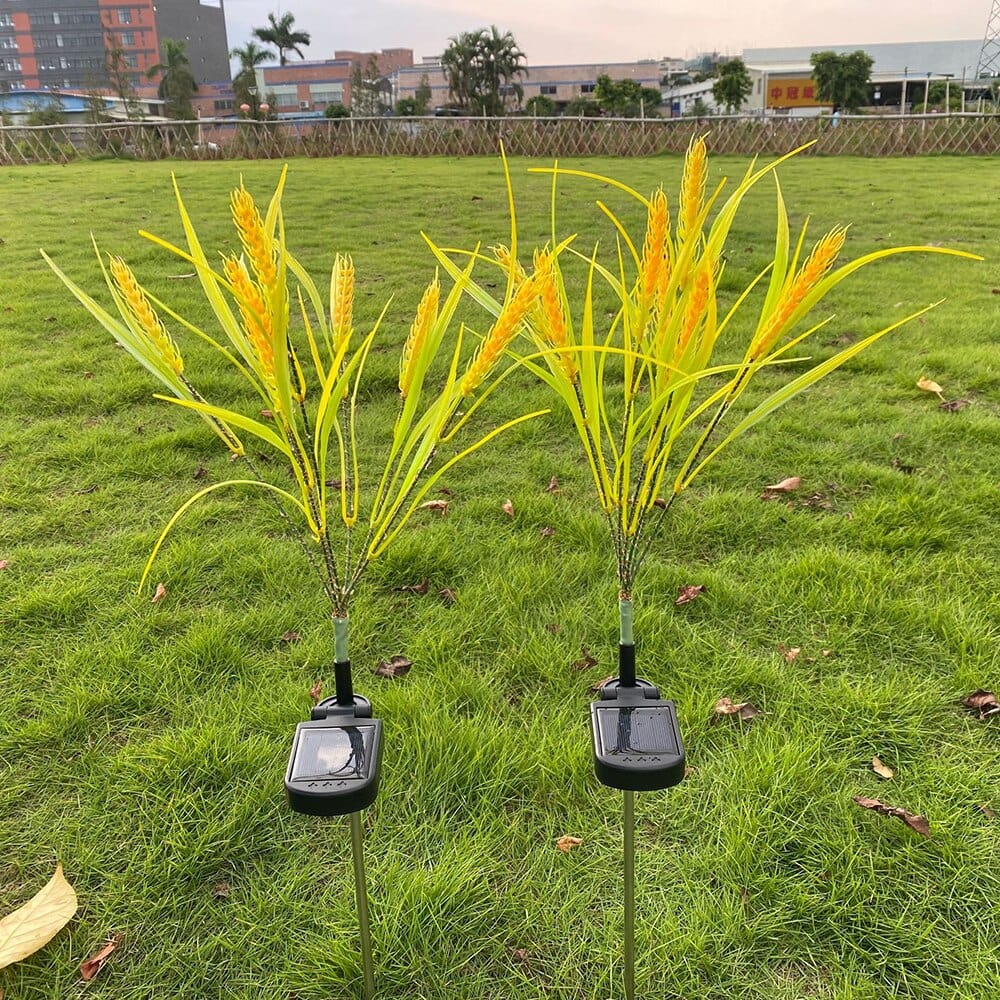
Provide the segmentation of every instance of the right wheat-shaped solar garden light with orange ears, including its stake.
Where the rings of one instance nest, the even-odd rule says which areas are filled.
[[[469,290],[477,303],[500,316],[512,294],[535,286],[537,300],[521,327],[531,346],[527,351],[512,346],[510,353],[568,410],[609,527],[618,581],[620,670],[592,704],[591,721],[597,777],[624,792],[624,978],[629,1000],[634,993],[634,796],[637,791],[675,785],[684,775],[674,705],[660,699],[656,686],[636,677],[632,597],[639,569],[674,501],[721,451],[907,321],[895,322],[818,363],[803,364],[808,359],[791,352],[824,325],[810,325],[807,316],[829,291],[865,264],[894,254],[923,250],[973,256],[940,247],[893,247],[837,267],[847,230],[835,228],[807,250],[803,227],[792,243],[775,181],[773,256],[743,292],[718,296],[726,239],[744,196],[801,149],[761,168],[752,164],[723,202],[725,181],[708,189],[705,142],[692,139],[673,223],[662,188],[647,198],[620,181],[586,171],[558,165],[536,170],[551,174],[552,232],[550,242],[534,252],[530,264],[522,263],[517,254],[508,173],[510,246],[493,252],[493,263],[506,279],[506,294],[503,301],[494,298],[489,292],[493,286],[485,283]],[[619,215],[598,202],[617,233],[617,255],[610,265],[598,261],[596,250],[578,251],[575,237],[561,239],[556,232],[557,184],[570,177],[624,192],[645,212],[645,232],[636,237]],[[709,225],[709,214],[717,205]],[[459,280],[468,273],[455,262],[454,251],[431,247],[452,278]],[[480,256],[478,248],[469,253],[472,259]],[[573,264],[585,270],[583,302],[575,308],[563,279],[563,269]],[[761,291],[751,298],[758,284]],[[600,297],[595,285],[601,289]],[[751,303],[759,309],[756,315],[749,315]],[[598,328],[605,315],[609,321]],[[728,352],[722,360],[715,351],[720,340]],[[772,369],[773,382],[788,365],[795,367],[783,385],[755,406],[736,406],[762,368]]]

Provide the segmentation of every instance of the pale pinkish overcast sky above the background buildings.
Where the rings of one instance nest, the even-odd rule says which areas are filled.
[[[981,39],[992,0],[225,0],[230,47],[269,12],[295,15],[312,35],[308,59],[334,49],[413,49],[439,55],[448,38],[496,24],[528,64],[631,62],[744,48]],[[294,56],[292,57],[294,58]]]

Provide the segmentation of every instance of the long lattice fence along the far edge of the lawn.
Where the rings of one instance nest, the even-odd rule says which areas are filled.
[[[0,127],[0,165],[83,159],[272,159],[290,156],[655,156],[709,133],[715,153],[814,155],[1000,153],[1000,115],[830,118],[340,118],[118,122]]]

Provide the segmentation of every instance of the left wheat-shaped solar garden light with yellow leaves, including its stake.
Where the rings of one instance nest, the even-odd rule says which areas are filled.
[[[445,353],[441,351],[445,334],[473,265],[460,272],[446,296],[442,296],[435,276],[424,290],[403,346],[395,422],[386,428],[381,441],[364,442],[366,457],[373,452],[381,454],[381,470],[362,476],[356,420],[359,387],[388,307],[367,336],[357,342],[353,329],[354,266],[350,258],[336,255],[327,304],[286,245],[281,209],[284,182],[283,171],[264,215],[242,183],[233,192],[230,209],[242,252],[229,253],[217,264],[199,242],[176,182],[186,247],[142,234],[195,268],[214,314],[213,333],[198,329],[147,292],[120,257],[109,257],[105,262],[98,251],[117,316],[51,259],[45,259],[118,343],[166,385],[169,395],[158,398],[197,413],[232,457],[242,459],[252,473],[248,478],[213,483],[187,500],[153,547],[142,583],[166,536],[194,503],[218,489],[250,486],[265,490],[277,504],[289,534],[297,538],[330,601],[336,694],[313,709],[309,722],[299,724],[285,787],[289,804],[299,812],[351,817],[368,997],[374,984],[361,811],[372,804],[378,791],[382,726],[371,718],[367,699],[353,691],[348,654],[351,597],[368,564],[399,537],[442,475],[498,434],[547,412],[508,420],[471,444],[461,440],[460,432],[467,429],[479,405],[497,385],[494,369],[534,307],[537,292],[530,283],[512,292],[475,350],[463,352],[460,331]],[[253,402],[238,410],[206,400],[185,368],[161,315],[218,351],[249,383]],[[445,356],[439,358],[441,354]],[[436,359],[441,363],[435,366]],[[431,388],[432,370],[444,372],[443,384],[436,388]],[[240,388],[246,395],[247,386]],[[256,449],[266,450],[278,460],[272,461],[270,468],[283,464],[285,474],[274,474],[277,482],[263,478],[244,448],[241,434],[252,436]]]

